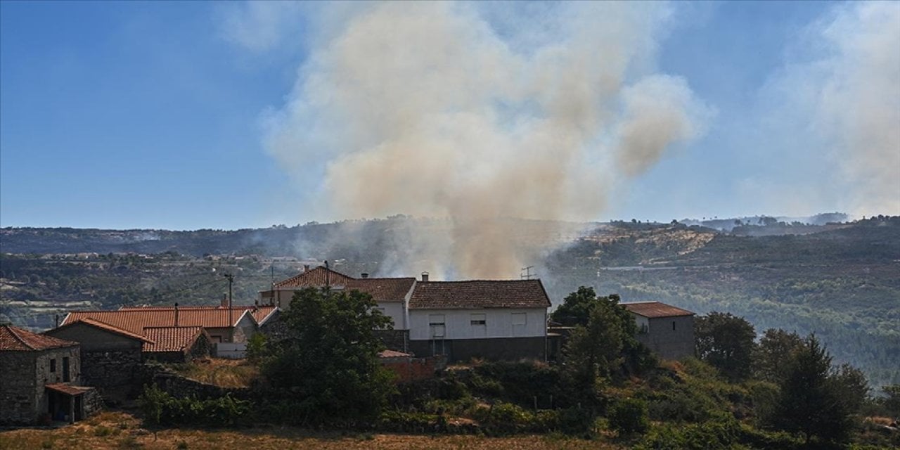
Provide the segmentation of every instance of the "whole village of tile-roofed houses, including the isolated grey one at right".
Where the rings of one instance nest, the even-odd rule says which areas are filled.
[[[549,319],[551,301],[539,279],[355,277],[305,266],[260,291],[252,306],[234,306],[226,297],[205,306],[71,311],[41,334],[3,324],[0,424],[73,423],[104,404],[127,404],[152,382],[144,368],[148,362],[244,358],[255,335],[276,338],[283,332],[282,311],[295,292],[309,287],[372,296],[374,310],[392,322],[392,329],[378,330],[384,347],[378,356],[397,383],[439,376],[448,363],[473,359],[558,361],[572,329]],[[661,302],[621,306],[635,318],[636,338],[657,355],[694,355],[692,312]]]

